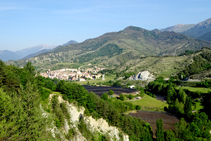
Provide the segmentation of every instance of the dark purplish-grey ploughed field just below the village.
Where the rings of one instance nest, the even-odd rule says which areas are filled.
[[[89,85],[83,85],[85,89],[87,89],[89,92],[94,92],[98,96],[102,96],[103,93],[108,93],[109,90],[113,90],[114,94],[120,95],[120,94],[135,94],[137,91],[136,89],[129,89],[129,88],[121,88],[121,87],[109,87],[109,86],[89,86]]]

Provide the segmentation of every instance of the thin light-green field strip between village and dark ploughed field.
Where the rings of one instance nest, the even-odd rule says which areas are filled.
[[[89,84],[95,84],[99,82],[104,83],[104,82],[108,82],[109,80],[114,80],[115,77],[116,77],[115,75],[109,74],[109,75],[105,75],[105,80],[75,81],[75,83],[83,84],[83,85],[86,85],[88,81],[89,81]]]

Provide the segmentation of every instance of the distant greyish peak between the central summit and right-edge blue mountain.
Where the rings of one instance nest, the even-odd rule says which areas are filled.
[[[160,29],[160,31],[174,31],[174,32],[179,33],[179,32],[187,31],[194,26],[195,24],[178,24],[175,26],[170,26],[164,29]]]

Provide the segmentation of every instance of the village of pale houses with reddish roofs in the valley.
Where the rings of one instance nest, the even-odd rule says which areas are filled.
[[[43,77],[47,78],[57,78],[60,80],[76,80],[76,81],[86,81],[86,80],[92,80],[92,79],[103,79],[104,75],[99,74],[98,72],[100,70],[103,70],[104,68],[89,68],[85,69],[83,72],[81,72],[78,69],[60,69],[60,70],[48,70],[46,73],[40,73]]]

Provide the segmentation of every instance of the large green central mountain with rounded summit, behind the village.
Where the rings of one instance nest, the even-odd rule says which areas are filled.
[[[27,60],[8,61],[7,64],[23,66],[30,61],[39,70],[77,68],[89,63],[114,67],[141,57],[178,55],[185,50],[202,47],[211,47],[211,43],[175,32],[129,26],[119,32],[106,33],[82,43],[57,47]]]

